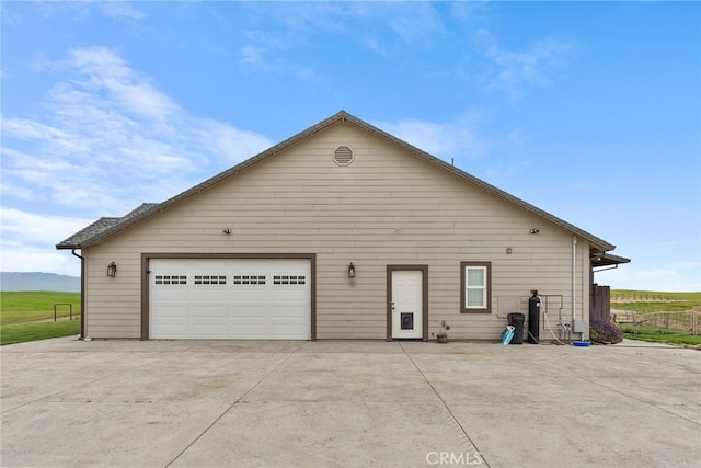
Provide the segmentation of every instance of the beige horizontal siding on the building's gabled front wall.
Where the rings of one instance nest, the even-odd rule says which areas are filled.
[[[349,167],[332,160],[341,145],[355,152]],[[570,321],[571,242],[562,228],[337,123],[85,249],[87,332],[140,336],[143,252],[315,253],[319,339],[384,339],[387,265],[425,264],[429,331],[445,320],[452,339],[497,340],[514,298],[522,309],[532,288],[563,295]],[[588,318],[588,246],[577,254],[577,313]],[[492,313],[460,313],[461,261],[492,262]]]

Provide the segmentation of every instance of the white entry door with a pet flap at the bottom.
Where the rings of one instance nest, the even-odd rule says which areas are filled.
[[[421,270],[392,272],[392,338],[423,338],[423,279]]]

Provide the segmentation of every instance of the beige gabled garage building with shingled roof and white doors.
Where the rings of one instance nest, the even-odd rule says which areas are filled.
[[[531,289],[587,339],[591,269],[627,261],[343,111],[57,248],[82,262],[82,335],[145,340],[495,340]]]

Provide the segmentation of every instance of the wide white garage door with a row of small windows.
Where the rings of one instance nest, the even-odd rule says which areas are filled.
[[[153,339],[311,338],[311,262],[151,259]]]

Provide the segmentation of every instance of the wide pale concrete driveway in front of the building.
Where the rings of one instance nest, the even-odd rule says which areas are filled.
[[[0,352],[3,467],[701,459],[694,350],[65,338]]]

